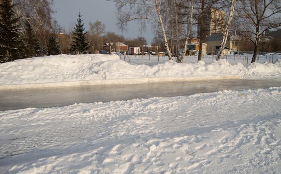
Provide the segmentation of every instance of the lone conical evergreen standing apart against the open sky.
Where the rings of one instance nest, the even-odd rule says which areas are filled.
[[[75,24],[75,28],[73,31],[73,41],[71,45],[71,51],[75,52],[78,51],[80,54],[85,53],[90,47],[89,42],[87,42],[86,34],[87,32],[85,31],[84,28],[84,23],[82,23],[82,15],[79,12],[78,14],[78,19],[77,19],[77,24]]]

